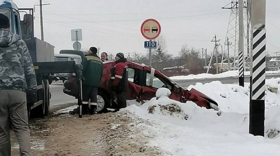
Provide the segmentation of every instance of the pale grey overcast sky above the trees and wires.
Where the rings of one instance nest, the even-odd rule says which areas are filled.
[[[34,7],[39,0],[13,0],[18,7]],[[154,18],[168,53],[178,56],[182,45],[213,51],[215,34],[224,45],[231,0],[43,0],[44,40],[61,49],[72,49],[71,30],[82,29],[82,48],[100,51],[146,53],[140,32],[142,22]],[[279,0],[266,1],[267,51],[280,50]],[[40,7],[35,6],[35,36],[40,38]],[[233,41],[232,41],[233,42]],[[224,48],[224,47],[223,47]]]

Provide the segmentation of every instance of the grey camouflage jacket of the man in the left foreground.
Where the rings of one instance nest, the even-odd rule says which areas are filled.
[[[22,38],[0,29],[0,90],[37,88],[33,63]]]

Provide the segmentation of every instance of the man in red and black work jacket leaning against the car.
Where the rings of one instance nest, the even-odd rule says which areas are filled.
[[[121,109],[126,107],[125,94],[128,89],[128,67],[123,53],[117,53],[115,60],[116,65],[111,69],[112,90],[116,92],[117,103],[119,109]]]

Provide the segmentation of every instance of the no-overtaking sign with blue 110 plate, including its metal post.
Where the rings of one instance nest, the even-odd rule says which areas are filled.
[[[143,37],[150,40],[144,42],[144,47],[146,48],[146,43],[147,43],[148,44],[147,48],[149,48],[149,60],[150,60],[149,62],[150,62],[150,66],[152,66],[152,48],[156,48],[156,43],[154,46],[152,46],[154,43],[152,40],[160,35],[161,25],[155,19],[150,18],[142,23],[140,27],[140,32],[143,35]]]

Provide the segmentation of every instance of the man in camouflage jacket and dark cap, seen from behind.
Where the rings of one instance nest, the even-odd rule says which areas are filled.
[[[10,127],[21,156],[30,156],[27,100],[35,102],[36,76],[22,38],[9,32],[9,19],[0,14],[0,155],[11,155]]]

